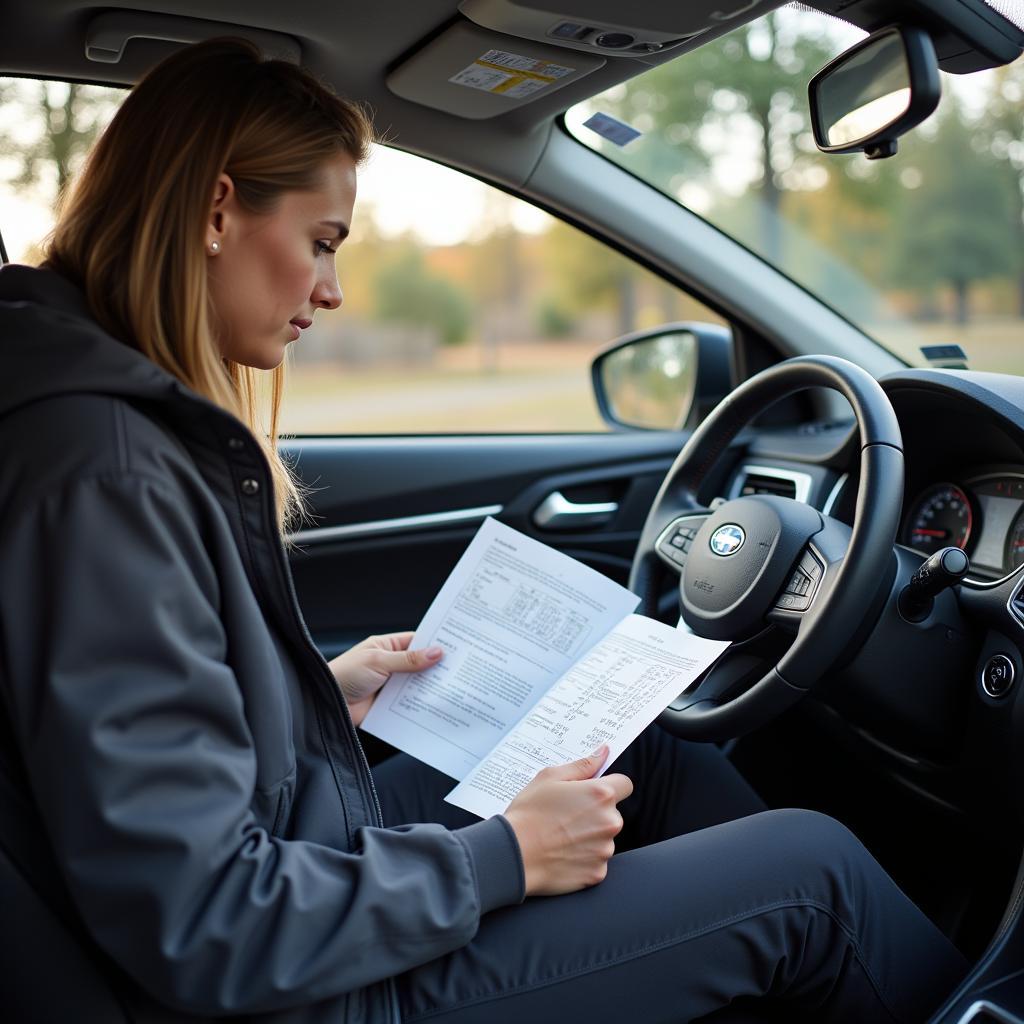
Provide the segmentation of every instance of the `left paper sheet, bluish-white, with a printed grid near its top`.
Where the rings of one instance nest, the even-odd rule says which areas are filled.
[[[487,519],[413,638],[444,657],[393,676],[362,728],[461,779],[638,603],[594,569]]]

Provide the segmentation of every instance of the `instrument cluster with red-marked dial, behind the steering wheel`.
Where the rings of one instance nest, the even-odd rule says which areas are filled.
[[[929,485],[907,505],[900,541],[923,555],[961,548],[971,575],[1012,572],[1024,565],[1024,474]]]

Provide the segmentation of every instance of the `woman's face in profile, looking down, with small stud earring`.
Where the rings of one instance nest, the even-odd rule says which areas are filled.
[[[355,164],[328,161],[308,191],[285,193],[271,213],[243,209],[222,174],[211,207],[206,253],[213,330],[221,355],[271,370],[317,309],[341,305],[334,254],[348,234]]]

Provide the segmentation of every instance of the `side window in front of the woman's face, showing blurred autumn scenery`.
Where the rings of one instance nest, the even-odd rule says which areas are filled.
[[[584,232],[378,146],[341,247],[341,309],[290,349],[294,434],[605,430],[590,361],[674,319],[722,323]]]

